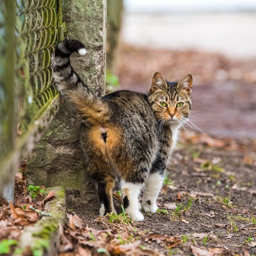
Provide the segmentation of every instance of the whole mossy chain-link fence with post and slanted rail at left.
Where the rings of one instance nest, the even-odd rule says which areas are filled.
[[[0,193],[5,187],[13,194],[6,184],[58,108],[50,58],[63,39],[61,6],[61,0],[0,1]]]

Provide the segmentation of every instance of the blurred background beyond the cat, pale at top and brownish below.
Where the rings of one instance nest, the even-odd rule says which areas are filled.
[[[196,126],[256,137],[255,0],[110,2],[107,68],[119,88],[146,92],[155,71],[168,81],[191,73]]]

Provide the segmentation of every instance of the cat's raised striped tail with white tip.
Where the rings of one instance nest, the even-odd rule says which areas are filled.
[[[85,55],[83,43],[74,39],[64,40],[55,49],[52,67],[57,88],[83,118],[94,123],[107,121],[110,116],[108,104],[92,93],[70,65],[73,52]]]

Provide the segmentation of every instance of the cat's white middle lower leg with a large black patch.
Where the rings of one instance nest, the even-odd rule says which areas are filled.
[[[135,221],[144,220],[143,214],[139,211],[140,208],[138,200],[142,184],[136,184],[122,180],[120,185],[125,212],[128,215],[131,215],[132,219]]]

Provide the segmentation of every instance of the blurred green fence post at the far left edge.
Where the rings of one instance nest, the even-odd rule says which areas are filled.
[[[4,115],[1,118],[1,155],[6,156],[9,151],[13,149],[14,139],[15,139],[15,124],[16,124],[16,93],[14,85],[14,68],[15,68],[15,35],[14,35],[14,22],[15,22],[15,4],[13,0],[5,0],[5,13],[2,13],[5,19],[5,32],[4,38],[6,41],[2,43],[5,48],[5,58],[4,63],[2,62],[2,83],[0,93],[4,94],[5,104],[1,109],[0,115]],[[3,11],[3,10],[2,10]],[[7,43],[8,40],[8,43]],[[2,57],[1,57],[2,58]],[[9,182],[4,186],[3,196],[8,201],[13,200],[14,193],[14,176],[13,173],[9,173]]]

